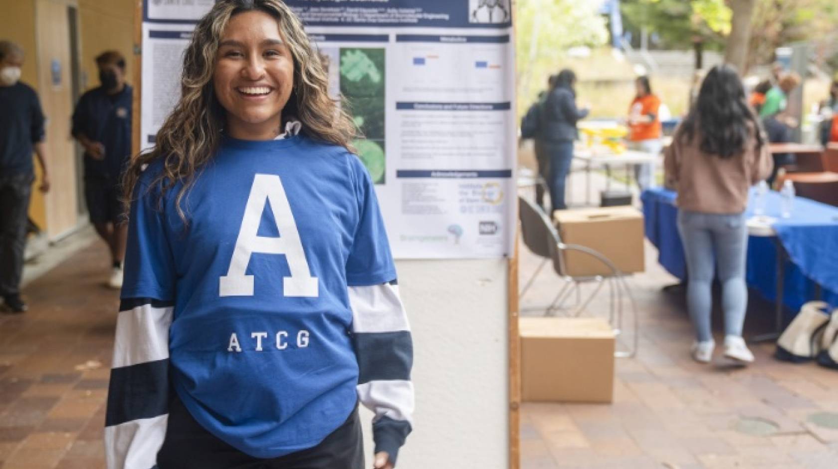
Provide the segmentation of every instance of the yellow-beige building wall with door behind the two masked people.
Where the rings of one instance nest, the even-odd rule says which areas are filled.
[[[99,85],[94,59],[107,49],[127,58],[129,82],[134,69],[134,12],[140,0],[0,0],[0,39],[20,44],[26,51],[23,82],[38,91],[48,117],[48,162],[53,183],[44,195],[33,191],[30,217],[54,239],[82,222],[77,216],[80,197],[75,168],[75,150],[70,141],[72,64],[70,64],[69,17],[67,8],[78,13],[80,86],[88,90]],[[52,81],[51,64],[61,67],[60,85]],[[39,172],[39,168],[38,168]],[[39,174],[40,180],[40,174]],[[39,186],[39,180],[35,187]]]

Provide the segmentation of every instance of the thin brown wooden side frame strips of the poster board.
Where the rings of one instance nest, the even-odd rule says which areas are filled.
[[[515,11],[517,2],[513,0]],[[514,18],[514,17],[513,17]],[[513,21],[515,31],[515,21]],[[141,148],[141,111],[142,111],[142,0],[135,0],[134,11],[134,103],[132,115],[132,154],[136,156]],[[517,75],[516,75],[517,76]],[[517,195],[515,195],[517,197]],[[516,212],[517,213],[517,212]],[[509,358],[509,466],[520,469],[520,340],[518,337],[518,243],[517,217],[510,220],[515,224],[514,255],[507,261],[507,322],[508,322],[508,358]]]

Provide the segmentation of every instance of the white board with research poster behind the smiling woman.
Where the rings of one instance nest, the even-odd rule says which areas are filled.
[[[214,0],[142,0],[142,147]],[[509,0],[287,2],[365,140],[414,336],[404,469],[520,466],[514,44]],[[360,117],[360,119],[359,119]],[[508,256],[505,257],[504,256]],[[479,399],[473,399],[479,396]],[[361,410],[365,422],[370,412]],[[370,425],[365,425],[369,463]]]

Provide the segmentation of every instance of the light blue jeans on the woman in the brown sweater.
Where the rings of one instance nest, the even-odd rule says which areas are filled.
[[[680,210],[678,232],[684,244],[687,275],[687,308],[696,338],[712,340],[710,316],[712,281],[718,271],[722,283],[725,335],[742,337],[747,307],[745,214],[702,214]]]

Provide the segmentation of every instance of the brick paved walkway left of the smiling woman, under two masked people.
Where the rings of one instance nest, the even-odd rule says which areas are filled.
[[[29,285],[30,311],[0,315],[0,467],[104,467],[102,427],[115,291],[91,245]]]

